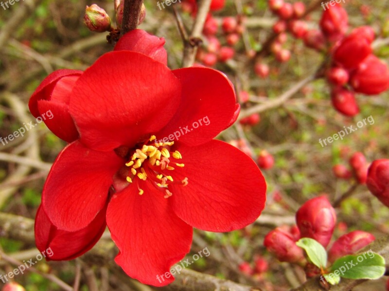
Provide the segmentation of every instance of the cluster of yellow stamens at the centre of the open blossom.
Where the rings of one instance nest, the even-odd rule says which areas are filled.
[[[131,156],[131,160],[125,165],[130,168],[128,176],[126,177],[128,183],[146,181],[152,182],[158,190],[163,191],[164,198],[169,198],[173,193],[169,190],[170,184],[188,185],[188,177],[181,181],[175,181],[171,172],[175,167],[182,168],[185,165],[179,163],[182,159],[178,151],[171,152],[170,149],[174,145],[174,141],[170,142],[153,142],[156,136],[151,136],[144,142],[140,149],[135,150]],[[136,179],[139,179],[136,181]],[[139,195],[143,194],[143,189],[140,188]]]

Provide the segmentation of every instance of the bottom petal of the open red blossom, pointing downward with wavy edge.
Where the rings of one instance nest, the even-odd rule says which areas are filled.
[[[115,261],[130,277],[164,286],[174,281],[170,267],[190,251],[193,230],[148,181],[141,188],[139,195],[133,183],[108,204],[107,225],[120,250]]]

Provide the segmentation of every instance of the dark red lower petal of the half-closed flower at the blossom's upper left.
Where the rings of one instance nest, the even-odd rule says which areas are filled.
[[[37,104],[43,121],[54,135],[67,142],[78,139],[77,128],[69,114],[69,105],[46,100],[39,100]],[[47,113],[50,113],[49,116]]]

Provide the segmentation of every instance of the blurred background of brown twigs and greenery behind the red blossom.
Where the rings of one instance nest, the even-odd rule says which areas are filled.
[[[103,53],[112,50],[112,46],[106,43],[107,33],[92,33],[83,24],[85,6],[92,3],[104,8],[114,19],[112,2],[24,0],[15,2],[8,9],[0,7],[0,137],[7,137],[22,127],[23,122],[34,120],[28,111],[28,100],[49,73],[59,68],[84,70]],[[314,1],[303,2],[309,6]],[[319,2],[315,3],[316,6],[305,18],[309,28],[318,27],[323,12]],[[154,0],[145,0],[144,4],[146,17],[139,28],[164,37],[168,66],[180,68],[183,44],[173,7],[160,10]],[[183,23],[190,27],[193,18],[185,5],[173,5]],[[389,36],[389,1],[345,0],[344,7],[351,27],[371,25],[378,38],[384,40],[374,52],[388,61],[389,46],[385,39]],[[290,51],[290,59],[280,62],[274,55],[265,54],[261,62],[268,65],[269,72],[261,78],[254,70],[252,54],[263,48],[273,34],[276,17],[269,10],[266,0],[227,0],[223,9],[212,12],[219,25],[223,17],[228,16],[238,16],[244,27],[235,43],[228,40],[220,28],[216,33],[222,46],[233,49],[233,57],[209,64],[200,51],[198,60],[230,77],[242,112],[258,108],[260,116],[254,116],[251,121],[236,122],[218,138],[262,163],[260,167],[268,186],[267,202],[257,222],[245,229],[224,234],[195,230],[192,253],[188,257],[205,247],[210,256],[198,259],[188,268],[256,286],[260,290],[289,290],[304,282],[304,271],[288,263],[280,263],[266,251],[263,240],[276,226],[293,225],[296,210],[308,199],[326,193],[336,204],[338,224],[334,238],[352,230],[364,230],[376,238],[388,234],[388,208],[365,186],[358,185],[353,179],[338,179],[332,171],[336,164],[347,165],[351,154],[357,151],[365,154],[368,162],[388,158],[388,93],[377,97],[358,95],[361,112],[354,118],[336,112],[329,97],[330,87],[324,79],[305,82],[287,101],[274,103],[298,82],[314,75],[326,56],[305,47],[301,39],[288,35],[283,47]],[[209,42],[206,40],[202,51],[207,50]],[[267,105],[261,107],[261,104]],[[367,123],[343,140],[335,140],[324,147],[320,145],[320,138],[333,136],[344,126],[355,127],[359,120],[369,116],[374,120],[373,124]],[[34,219],[51,163],[65,145],[43,122],[24,137],[0,144],[2,214]],[[271,159],[265,164],[258,159],[264,150],[274,158],[274,165]],[[23,261],[35,257],[38,252],[31,233],[10,234],[12,229],[8,219],[8,216],[0,215],[0,274],[14,269],[15,264],[9,257]],[[16,225],[22,223],[20,220]],[[31,224],[28,225],[31,227]],[[108,232],[102,240],[110,242]],[[9,256],[8,259],[1,259],[4,258],[1,254]],[[81,257],[69,262],[48,263],[42,260],[34,268],[42,274],[53,274],[70,286],[78,281],[78,290],[81,291],[158,290],[127,278],[111,263],[93,263],[90,257]],[[29,272],[16,276],[15,280],[27,291],[63,290],[55,280],[42,274]],[[205,290],[198,288],[194,290]],[[385,290],[385,280],[355,288],[362,289]]]

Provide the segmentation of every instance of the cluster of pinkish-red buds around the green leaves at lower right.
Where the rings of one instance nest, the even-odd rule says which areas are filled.
[[[387,174],[389,181],[389,171]],[[311,238],[327,248],[336,226],[335,209],[325,196],[310,199],[297,211],[296,223],[297,227],[281,226],[270,231],[265,236],[264,245],[280,261],[303,266],[307,277],[320,274],[321,270],[318,267],[305,260],[302,249],[296,245],[296,241],[300,238]],[[373,240],[374,236],[364,231],[356,230],[344,234],[329,249],[329,261],[334,262],[339,257],[355,254]]]

